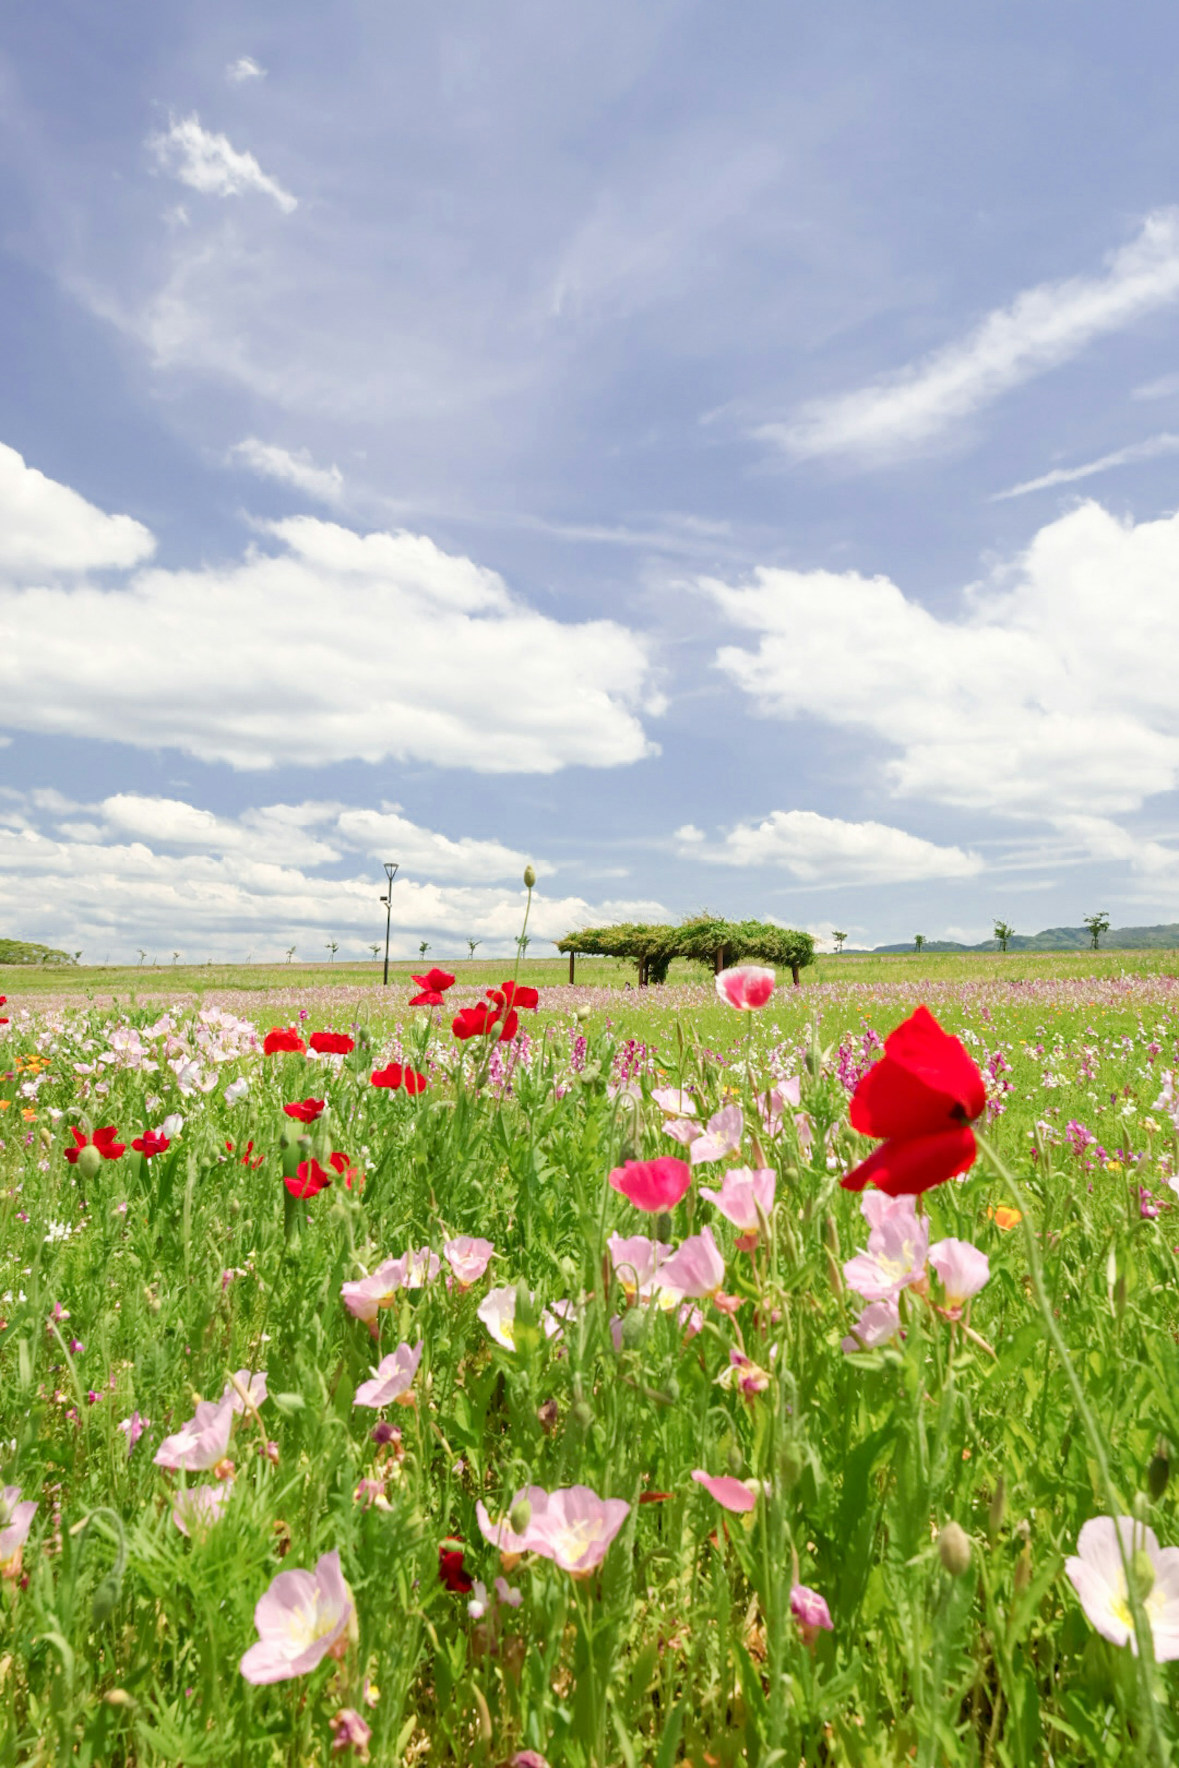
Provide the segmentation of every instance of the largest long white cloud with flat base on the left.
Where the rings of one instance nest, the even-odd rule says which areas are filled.
[[[99,536],[150,546],[117,525],[129,518],[92,516],[115,523]],[[117,589],[0,573],[0,723],[237,769],[392,757],[555,773],[650,753],[647,647],[617,622],[536,613],[424,536],[313,516],[263,532],[276,552]]]

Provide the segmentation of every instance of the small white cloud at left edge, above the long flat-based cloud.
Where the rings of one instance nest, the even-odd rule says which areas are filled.
[[[0,576],[127,568],[154,550],[143,523],[104,514],[0,442]]]

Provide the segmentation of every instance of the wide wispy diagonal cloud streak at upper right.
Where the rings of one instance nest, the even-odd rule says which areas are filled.
[[[1179,299],[1179,209],[1158,209],[1107,256],[1105,276],[1039,283],[956,343],[856,392],[815,400],[758,435],[799,458],[891,458]]]

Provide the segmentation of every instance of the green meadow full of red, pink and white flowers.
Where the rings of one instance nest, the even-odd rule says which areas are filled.
[[[1172,1759],[1172,976],[286,987],[0,1006],[0,1763]]]

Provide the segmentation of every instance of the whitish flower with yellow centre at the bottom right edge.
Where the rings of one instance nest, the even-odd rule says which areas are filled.
[[[1137,1655],[1119,1535],[1128,1559],[1144,1556],[1138,1559],[1138,1588],[1154,1579],[1142,1607],[1154,1635],[1154,1657],[1167,1664],[1179,1658],[1179,1547],[1160,1547],[1154,1529],[1131,1517],[1089,1517],[1076,1538],[1076,1554],[1064,1561],[1064,1570],[1101,1637],[1114,1646],[1130,1644]]]

